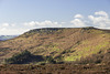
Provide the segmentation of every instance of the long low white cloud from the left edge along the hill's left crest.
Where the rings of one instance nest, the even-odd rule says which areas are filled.
[[[9,25],[10,24],[10,25]],[[14,35],[14,34],[22,34],[29,30],[37,29],[37,28],[61,28],[62,22],[53,22],[53,21],[31,21],[21,24],[13,24],[13,23],[1,23],[0,24],[0,35]]]

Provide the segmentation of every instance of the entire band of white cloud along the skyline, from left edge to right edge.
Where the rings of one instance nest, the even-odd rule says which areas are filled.
[[[0,35],[14,35],[22,34],[31,29],[38,28],[81,28],[81,27],[95,27],[99,29],[110,29],[110,18],[109,14],[105,11],[98,11],[94,14],[87,17],[82,14],[74,15],[72,21],[30,21],[22,23],[1,23],[0,24]]]

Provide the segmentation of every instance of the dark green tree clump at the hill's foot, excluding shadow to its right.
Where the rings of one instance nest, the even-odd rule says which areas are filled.
[[[23,64],[28,63],[33,59],[33,55],[29,51],[23,51],[22,53],[15,54],[10,59],[6,59],[7,64]]]

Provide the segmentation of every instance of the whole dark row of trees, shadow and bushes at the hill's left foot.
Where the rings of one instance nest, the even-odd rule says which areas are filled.
[[[56,61],[52,56],[33,55],[28,50],[4,60],[6,64],[26,64],[33,62],[43,62],[44,64],[55,64]]]

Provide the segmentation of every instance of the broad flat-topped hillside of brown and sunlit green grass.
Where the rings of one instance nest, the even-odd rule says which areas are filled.
[[[80,61],[94,54],[105,55],[110,53],[110,30],[91,27],[31,30],[15,39],[0,42],[0,63],[24,50],[33,55],[52,56],[56,62]]]

